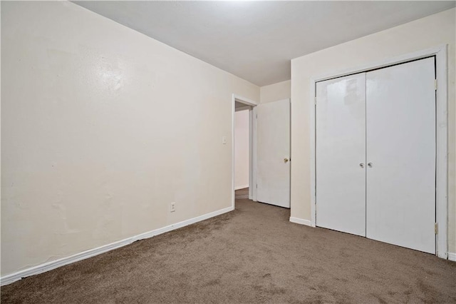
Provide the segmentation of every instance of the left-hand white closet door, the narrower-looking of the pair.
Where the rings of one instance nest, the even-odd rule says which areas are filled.
[[[316,91],[316,225],[366,236],[366,74]]]

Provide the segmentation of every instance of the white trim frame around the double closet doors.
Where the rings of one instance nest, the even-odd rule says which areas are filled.
[[[373,62],[363,66],[354,67],[351,69],[343,69],[342,71],[334,71],[311,78],[311,226],[316,226],[316,83],[325,81],[331,78],[348,76],[350,74],[358,74],[373,69],[381,69],[395,64],[403,64],[408,61],[424,59],[429,56],[435,56],[435,68],[437,78],[436,91],[436,190],[435,190],[435,213],[436,223],[438,227],[437,241],[435,246],[436,255],[439,258],[448,258],[448,243],[447,243],[447,228],[448,228],[448,163],[447,163],[447,44],[436,46],[431,49],[416,51],[410,54],[396,56],[383,61]]]

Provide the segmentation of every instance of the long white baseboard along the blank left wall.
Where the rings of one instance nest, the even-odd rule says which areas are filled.
[[[53,260],[51,262],[48,262],[48,263],[43,263],[41,265],[36,265],[36,266],[33,266],[31,268],[27,268],[25,270],[21,270],[21,271],[18,271],[16,273],[11,273],[9,275],[4,275],[3,277],[0,278],[0,285],[3,286],[3,285],[7,285],[7,284],[11,284],[13,282],[16,282],[16,280],[21,280],[21,278],[26,278],[30,275],[37,275],[38,273],[44,273],[48,270],[53,270],[53,269],[56,269],[58,267],[61,267],[63,265],[68,265],[68,264],[71,264],[71,263],[75,263],[75,262],[78,262],[78,260],[85,260],[86,258],[91,258],[95,255],[99,255],[101,253],[105,253],[105,252],[108,252],[110,250],[114,250],[116,248],[120,248],[120,247],[123,247],[125,245],[129,245],[133,242],[135,242],[136,240],[142,240],[142,239],[145,239],[145,238],[152,238],[152,236],[155,236],[155,235],[159,235],[159,234],[162,234],[162,233],[165,233],[165,232],[169,232],[171,230],[175,230],[177,228],[182,228],[184,226],[188,226],[190,224],[193,224],[193,223],[197,223],[199,221],[204,221],[204,220],[207,220],[208,218],[213,218],[214,216],[219,216],[223,213],[227,213],[229,211],[233,211],[234,208],[233,207],[228,207],[228,208],[224,208],[224,209],[221,209],[221,210],[218,210],[218,211],[214,211],[214,212],[211,212],[211,213],[207,213],[207,214],[204,214],[202,216],[197,216],[196,218],[190,218],[189,220],[187,221],[182,221],[180,223],[175,223],[175,224],[172,224],[170,226],[165,226],[163,228],[158,228],[158,229],[155,229],[155,230],[151,230],[151,231],[148,231],[146,233],[141,233],[141,234],[138,234],[138,235],[134,235],[130,238],[125,238],[124,240],[118,240],[117,242],[114,242],[114,243],[110,243],[110,244],[107,244],[107,245],[103,245],[103,246],[100,246],[98,248],[93,248],[93,249],[89,249],[89,250],[86,250],[86,251],[83,251],[81,253],[76,253],[75,255],[70,255],[66,258],[60,258],[58,260]]]

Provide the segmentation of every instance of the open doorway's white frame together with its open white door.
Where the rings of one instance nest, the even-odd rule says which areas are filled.
[[[290,100],[254,103],[233,95],[232,206],[236,197],[237,111],[249,111],[249,199],[290,208]],[[241,185],[242,186],[242,185]]]

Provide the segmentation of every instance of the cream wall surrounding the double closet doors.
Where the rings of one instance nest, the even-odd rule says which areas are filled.
[[[456,253],[455,9],[291,61],[291,216],[311,219],[311,78],[448,44],[448,250]]]

